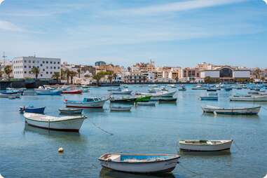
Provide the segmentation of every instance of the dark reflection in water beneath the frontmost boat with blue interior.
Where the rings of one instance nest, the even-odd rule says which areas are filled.
[[[100,178],[174,178],[174,174],[131,174],[126,172],[118,172],[102,167]]]

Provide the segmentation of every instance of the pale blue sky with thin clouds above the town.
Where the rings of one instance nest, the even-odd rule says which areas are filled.
[[[0,52],[129,66],[267,67],[263,0],[0,0]]]

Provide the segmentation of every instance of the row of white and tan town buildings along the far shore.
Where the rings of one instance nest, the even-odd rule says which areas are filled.
[[[94,76],[99,72],[109,72],[109,76],[101,78],[101,82],[116,83],[199,83],[199,82],[250,82],[266,81],[267,69],[250,69],[228,65],[214,65],[207,62],[197,64],[196,67],[163,66],[157,67],[155,62],[137,62],[130,67],[122,67],[97,61],[95,65],[68,64],[59,58],[48,57],[15,57],[11,62],[0,61],[0,78],[6,77],[5,66],[12,67],[11,78],[35,78],[32,67],[39,69],[38,78],[53,78],[60,74],[64,83],[71,73],[71,80],[76,84],[90,84],[95,82]],[[110,76],[112,74],[112,76]],[[112,78],[112,80],[110,80]]]

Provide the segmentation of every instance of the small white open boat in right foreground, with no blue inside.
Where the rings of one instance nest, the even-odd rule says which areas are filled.
[[[233,140],[179,140],[179,149],[184,151],[222,151],[231,148]]]

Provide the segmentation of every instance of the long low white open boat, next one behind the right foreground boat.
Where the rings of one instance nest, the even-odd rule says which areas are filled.
[[[214,113],[214,114],[258,114],[261,107],[244,107],[244,108],[222,108],[222,107],[212,107],[206,106],[202,107],[203,112]]]

